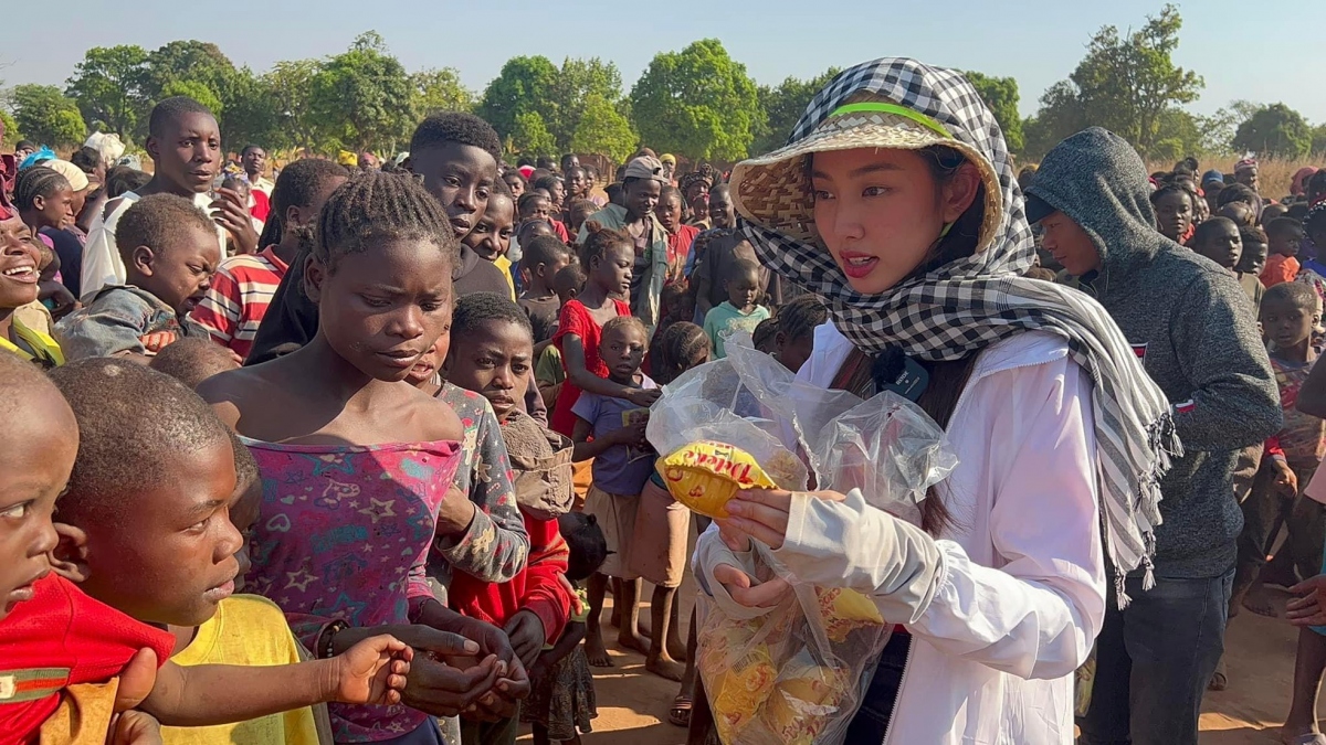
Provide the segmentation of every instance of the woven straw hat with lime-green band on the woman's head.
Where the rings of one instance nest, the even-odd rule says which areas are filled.
[[[922,150],[943,144],[976,164],[985,184],[985,216],[977,251],[993,240],[1002,219],[1002,191],[991,162],[953,138],[937,121],[873,94],[853,97],[809,135],[732,168],[732,203],[739,215],[789,237],[822,245],[815,229],[808,156],[834,150]]]

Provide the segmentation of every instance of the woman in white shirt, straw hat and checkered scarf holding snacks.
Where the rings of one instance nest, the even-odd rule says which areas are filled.
[[[1127,602],[1179,445],[1106,312],[1022,277],[1032,233],[993,115],[960,73],[866,62],[812,99],[786,147],[733,170],[732,198],[761,261],[829,306],[800,378],[869,398],[910,358],[960,463],[920,525],[859,492],[741,493],[700,540],[701,585],[737,618],[776,604],[786,583],[754,579],[754,538],[906,628],[849,742],[1071,742],[1105,561]]]

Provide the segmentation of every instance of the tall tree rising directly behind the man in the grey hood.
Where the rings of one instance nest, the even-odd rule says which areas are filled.
[[[1032,131],[1024,133],[1026,150],[1036,152],[1046,141],[1073,134],[1077,130],[1063,130],[1062,125],[1075,122],[1106,127],[1150,154],[1162,138],[1166,111],[1196,101],[1205,85],[1200,76],[1174,64],[1181,28],[1179,9],[1166,5],[1127,36],[1115,27],[1098,30],[1069,80],[1041,98],[1041,111],[1029,122],[1034,138]],[[1046,97],[1054,110],[1046,110]]]

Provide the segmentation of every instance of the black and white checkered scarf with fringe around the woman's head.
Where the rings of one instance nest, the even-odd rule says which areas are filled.
[[[1127,573],[1146,570],[1143,586],[1151,586],[1160,476],[1170,457],[1181,452],[1170,402],[1105,308],[1077,290],[1022,276],[1034,258],[1022,192],[998,123],[960,73],[907,58],[857,65],[810,101],[789,144],[861,93],[926,114],[984,154],[1002,191],[1002,223],[993,239],[985,237],[987,245],[973,256],[910,277],[884,293],[861,294],[823,247],[745,219],[741,228],[761,261],[819,296],[838,329],[865,353],[899,346],[915,358],[955,361],[1028,330],[1063,337],[1073,361],[1094,383],[1101,522],[1116,570],[1115,591],[1126,603]]]

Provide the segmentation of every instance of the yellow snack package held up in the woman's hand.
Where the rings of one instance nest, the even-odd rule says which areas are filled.
[[[691,443],[655,468],[672,498],[708,517],[725,518],[723,505],[740,489],[777,488],[751,453],[712,440]]]

